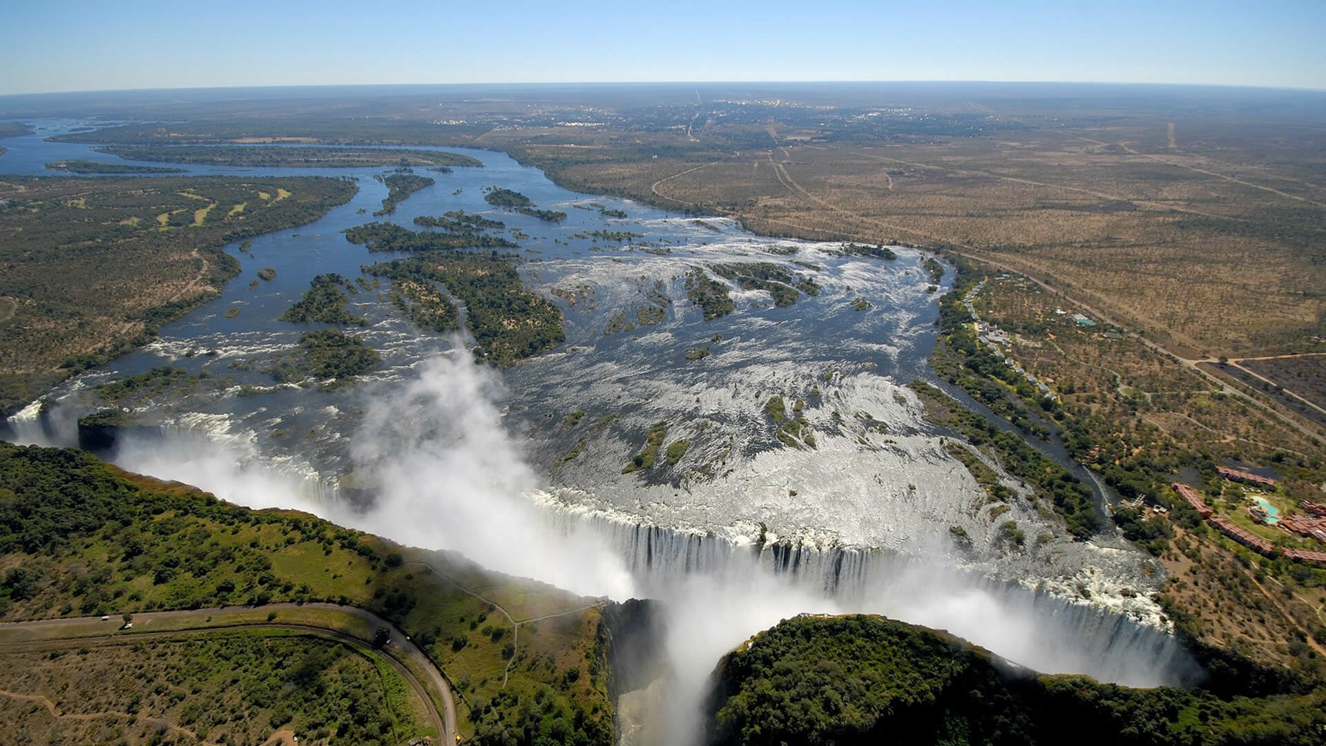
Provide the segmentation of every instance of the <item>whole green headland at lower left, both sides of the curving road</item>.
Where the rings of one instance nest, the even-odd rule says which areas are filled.
[[[442,708],[426,697],[442,693],[418,668],[435,664],[475,742],[614,742],[606,615],[591,599],[308,514],[228,504],[76,450],[0,442],[0,621],[91,617],[3,646],[0,689],[48,696],[57,713],[133,713],[56,721],[0,697],[13,731],[261,743],[288,729],[310,743],[438,743]],[[167,609],[182,613],[142,619]],[[391,645],[365,612],[395,628]],[[558,616],[517,636],[503,612]],[[430,664],[400,650],[404,636]],[[537,665],[504,677],[512,660]]]

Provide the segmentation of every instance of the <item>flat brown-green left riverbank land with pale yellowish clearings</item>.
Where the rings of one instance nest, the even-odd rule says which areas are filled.
[[[325,177],[9,177],[0,211],[0,415],[151,341],[239,272],[231,242],[349,200]]]

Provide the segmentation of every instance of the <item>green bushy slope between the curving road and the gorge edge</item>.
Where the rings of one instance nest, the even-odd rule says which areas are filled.
[[[410,634],[447,672],[461,694],[463,726],[473,723],[477,743],[521,743],[526,735],[613,742],[599,611],[522,624],[514,645],[493,603],[516,619],[536,619],[587,600],[443,552],[399,547],[306,514],[227,504],[74,450],[0,443],[0,563],[9,568],[0,584],[4,621],[276,601],[363,607]],[[302,662],[278,660],[272,670]],[[244,690],[265,681],[259,669],[231,685]],[[375,727],[381,710],[379,704],[362,713],[366,727]]]

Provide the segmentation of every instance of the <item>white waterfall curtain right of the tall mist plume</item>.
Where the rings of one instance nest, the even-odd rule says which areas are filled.
[[[667,599],[682,579],[707,576],[740,599],[744,589],[772,577],[774,588],[812,593],[837,613],[879,613],[945,629],[1044,673],[1082,673],[1132,686],[1191,685],[1203,676],[1163,628],[976,568],[955,568],[944,558],[792,543],[761,538],[760,531],[700,534],[545,507],[554,527],[589,527],[601,536],[650,597]],[[762,588],[769,592],[769,585]]]

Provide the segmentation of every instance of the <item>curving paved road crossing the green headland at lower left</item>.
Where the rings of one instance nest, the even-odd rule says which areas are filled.
[[[443,705],[444,705],[444,713],[439,713],[438,711],[436,705],[434,704],[432,698],[428,696],[427,688],[424,688],[418,681],[415,673],[410,668],[404,666],[400,661],[398,661],[394,656],[390,656],[390,654],[385,656],[385,660],[389,664],[391,664],[406,678],[406,682],[410,684],[410,686],[415,690],[415,693],[419,694],[420,698],[423,698],[424,705],[428,708],[430,717],[432,717],[432,719],[434,719],[434,725],[438,727],[438,731],[443,734],[444,742],[446,743],[455,743],[456,742],[456,735],[459,734],[459,731],[456,730],[456,701],[455,701],[455,696],[453,696],[453,693],[451,690],[451,685],[447,682],[447,678],[443,676],[443,673],[440,670],[438,670],[438,666],[434,665],[432,660],[428,658],[428,656],[426,656],[423,653],[423,650],[420,650],[408,637],[406,637],[404,633],[402,633],[399,629],[396,629],[387,620],[379,617],[378,615],[375,615],[375,613],[373,613],[373,612],[370,612],[367,609],[361,609],[358,607],[342,607],[342,605],[337,605],[337,604],[304,604],[302,607],[298,605],[298,604],[268,604],[265,607],[227,607],[224,609],[221,609],[221,608],[210,608],[210,609],[175,611],[175,612],[143,612],[143,613],[135,613],[134,615],[134,629],[133,631],[125,631],[125,632],[118,633],[118,634],[117,634],[118,628],[119,628],[119,617],[118,616],[111,617],[110,621],[105,621],[105,623],[101,621],[101,617],[44,619],[44,620],[32,620],[32,621],[11,621],[11,623],[0,624],[0,650],[4,650],[4,649],[25,649],[25,648],[30,648],[30,646],[50,645],[52,642],[61,642],[61,641],[70,641],[70,640],[105,640],[107,637],[121,637],[121,636],[125,636],[125,637],[133,636],[133,637],[137,638],[137,637],[143,637],[143,636],[149,636],[149,637],[167,637],[167,636],[178,636],[178,634],[196,634],[196,633],[206,633],[208,631],[215,631],[217,628],[224,629],[227,627],[231,627],[231,628],[235,628],[235,627],[264,627],[264,628],[274,628],[274,629],[293,629],[293,631],[298,631],[298,632],[317,634],[320,637],[338,640],[341,642],[350,644],[350,645],[357,646],[359,649],[366,649],[369,646],[366,640],[361,640],[361,638],[354,637],[351,634],[347,634],[345,632],[339,632],[339,631],[334,631],[334,629],[326,629],[326,628],[322,628],[322,627],[314,627],[314,625],[309,625],[309,624],[288,624],[288,623],[281,623],[281,621],[272,621],[272,623],[235,623],[233,625],[227,625],[225,621],[224,621],[225,616],[233,616],[233,615],[240,615],[240,613],[252,613],[255,611],[309,609],[309,608],[314,608],[314,609],[330,609],[330,611],[335,611],[335,612],[339,612],[339,613],[345,613],[345,615],[349,615],[349,616],[354,616],[354,617],[362,619],[363,621],[366,621],[369,624],[370,638],[371,638],[371,634],[374,634],[377,632],[377,629],[386,628],[391,633],[391,646],[395,648],[395,650],[399,652],[400,654],[403,654],[403,656],[411,658],[412,661],[415,661],[415,664],[418,664],[419,669],[422,669],[423,672],[427,673],[428,682],[432,684],[434,692],[436,692],[442,697],[442,701],[443,701]],[[149,628],[154,621],[158,621],[158,620],[166,620],[166,619],[184,619],[184,620],[187,620],[187,619],[195,619],[195,617],[199,619],[199,620],[204,620],[207,617],[211,617],[212,621],[202,623],[196,628],[192,628],[192,629],[152,632]],[[94,636],[86,636],[85,634],[85,636],[76,636],[76,637],[62,637],[62,638],[58,638],[58,640],[24,640],[23,638],[24,637],[23,633],[25,631],[37,631],[37,629],[57,629],[58,631],[62,627],[72,627],[72,625],[77,625],[77,624],[103,624],[103,625],[106,625],[106,632],[105,633],[98,633],[98,634],[94,634]]]

